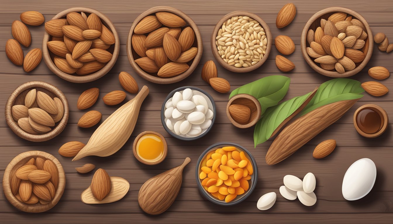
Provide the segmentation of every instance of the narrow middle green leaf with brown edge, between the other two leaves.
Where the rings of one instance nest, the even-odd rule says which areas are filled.
[[[310,96],[312,92],[300,97],[286,100],[277,106],[266,109],[254,129],[254,147],[268,140],[275,129],[290,115],[292,115]]]

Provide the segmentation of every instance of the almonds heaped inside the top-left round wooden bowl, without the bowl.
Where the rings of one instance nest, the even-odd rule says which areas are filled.
[[[46,22],[45,31],[52,36],[47,46],[55,54],[53,62],[65,73],[88,75],[112,59],[106,50],[115,37],[95,13],[68,13],[66,18]]]

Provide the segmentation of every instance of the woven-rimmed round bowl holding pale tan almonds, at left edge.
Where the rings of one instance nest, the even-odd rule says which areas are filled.
[[[40,81],[26,82],[15,89],[6,102],[6,121],[19,137],[43,142],[66,127],[69,107],[57,87]]]

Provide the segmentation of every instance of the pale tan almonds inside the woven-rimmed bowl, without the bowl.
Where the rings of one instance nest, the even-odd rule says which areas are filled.
[[[27,133],[38,135],[47,133],[64,114],[64,107],[57,97],[31,89],[24,99],[24,105],[14,105],[11,115],[18,126]]]

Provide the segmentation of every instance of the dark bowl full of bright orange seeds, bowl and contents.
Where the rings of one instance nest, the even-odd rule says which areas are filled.
[[[197,164],[195,177],[198,189],[215,204],[239,204],[257,185],[257,163],[252,154],[238,144],[213,144],[200,155]]]

